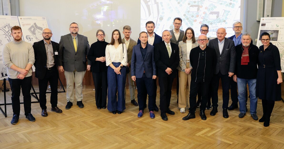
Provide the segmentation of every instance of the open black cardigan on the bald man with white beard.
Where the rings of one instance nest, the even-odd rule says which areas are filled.
[[[190,64],[192,67],[191,70],[191,80],[196,81],[197,67],[199,64],[199,53],[200,47],[195,47],[191,49],[189,54]],[[216,52],[215,49],[212,49],[208,46],[204,49],[205,51],[205,69],[204,69],[204,80],[203,82],[208,82],[212,80],[214,69],[216,67]]]

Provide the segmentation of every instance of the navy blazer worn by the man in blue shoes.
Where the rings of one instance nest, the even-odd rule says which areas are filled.
[[[153,75],[157,75],[156,64],[154,62],[154,46],[147,45],[147,53],[145,59],[143,59],[140,44],[137,44],[133,47],[132,51],[131,76],[142,78],[144,70],[147,78],[152,78]]]

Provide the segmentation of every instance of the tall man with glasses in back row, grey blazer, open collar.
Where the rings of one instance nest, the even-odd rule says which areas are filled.
[[[182,19],[177,17],[177,18],[174,18],[174,29],[170,30],[171,34],[173,35],[172,38],[171,38],[171,42],[174,43],[174,44],[177,44],[182,41],[182,38],[184,36],[184,31],[183,30],[180,30],[179,28],[181,27],[181,24],[182,23]],[[178,79],[178,70],[176,71],[177,72],[177,96],[178,96],[178,92],[179,92],[179,79]],[[177,99],[177,102],[178,102],[178,99]]]

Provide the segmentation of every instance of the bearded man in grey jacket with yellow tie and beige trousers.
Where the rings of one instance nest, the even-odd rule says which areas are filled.
[[[76,91],[77,105],[82,108],[82,83],[86,69],[90,70],[91,61],[87,65],[87,55],[90,45],[88,38],[79,35],[78,24],[73,22],[69,27],[70,34],[61,36],[59,42],[59,71],[64,72],[67,84],[67,105],[65,109],[70,109],[74,102],[74,82]],[[64,71],[65,70],[65,71]]]

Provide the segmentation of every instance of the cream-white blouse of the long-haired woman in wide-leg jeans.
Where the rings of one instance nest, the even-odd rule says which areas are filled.
[[[114,45],[106,45],[106,66],[112,62],[122,63],[124,66],[127,65],[127,49],[125,44],[123,44],[123,52],[122,44],[118,45],[117,48]]]

